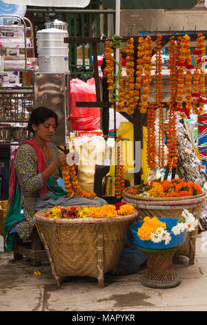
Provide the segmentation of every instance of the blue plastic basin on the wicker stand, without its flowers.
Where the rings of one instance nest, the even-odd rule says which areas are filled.
[[[177,221],[179,219],[176,218],[158,218],[159,221],[166,223],[166,230],[170,232],[172,227],[174,227],[177,224]],[[138,228],[141,227],[143,224],[143,221],[138,221],[137,223],[134,223],[131,225],[131,231],[135,239],[135,243],[137,246],[140,248],[148,248],[152,250],[163,250],[163,249],[168,249],[168,248],[174,248],[182,243],[184,243],[186,239],[186,230],[184,232],[181,232],[180,234],[173,234],[173,232],[170,232],[171,240],[170,243],[167,245],[165,244],[165,241],[161,241],[160,243],[153,243],[153,241],[142,241],[139,236],[137,235]]]

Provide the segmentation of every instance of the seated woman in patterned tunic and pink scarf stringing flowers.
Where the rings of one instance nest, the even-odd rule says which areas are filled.
[[[32,140],[22,142],[12,162],[8,210],[6,214],[6,250],[14,245],[14,232],[22,240],[30,236],[34,226],[34,214],[57,205],[108,204],[97,196],[88,199],[67,195],[57,183],[61,168],[68,166],[66,154],[50,142],[58,125],[57,114],[46,107],[32,111],[28,130]],[[23,199],[23,213],[22,213]]]

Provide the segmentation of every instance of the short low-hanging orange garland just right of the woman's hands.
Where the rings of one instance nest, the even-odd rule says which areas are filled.
[[[115,174],[115,195],[117,198],[121,198],[124,189],[124,153],[122,140],[120,138],[121,136],[116,139],[117,166]]]

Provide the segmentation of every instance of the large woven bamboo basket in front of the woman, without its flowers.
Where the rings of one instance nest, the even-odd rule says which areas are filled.
[[[104,287],[104,274],[115,272],[126,229],[138,212],[115,218],[49,219],[34,216],[57,286],[61,277],[92,277]]]

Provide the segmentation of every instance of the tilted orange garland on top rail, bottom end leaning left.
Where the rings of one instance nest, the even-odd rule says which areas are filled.
[[[142,101],[139,102],[140,113],[146,113],[148,108],[148,94],[150,89],[151,69],[152,69],[152,39],[148,35],[144,39],[144,77],[143,77],[143,94]]]

